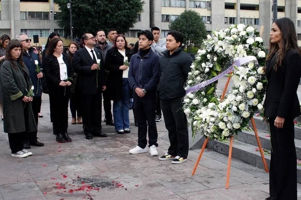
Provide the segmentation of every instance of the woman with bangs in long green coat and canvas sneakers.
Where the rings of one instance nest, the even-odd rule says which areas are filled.
[[[37,131],[31,108],[33,98],[28,94],[32,83],[22,55],[22,43],[17,39],[11,40],[1,68],[4,132],[8,133],[11,156],[16,158],[32,155],[23,148],[23,142],[26,133]]]

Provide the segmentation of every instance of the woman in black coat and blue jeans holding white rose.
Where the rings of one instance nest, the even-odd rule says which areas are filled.
[[[119,134],[130,133],[129,130],[129,99],[128,81],[129,64],[132,53],[124,35],[117,35],[114,46],[108,50],[105,68],[109,71],[107,88],[113,100],[113,117],[115,130]]]

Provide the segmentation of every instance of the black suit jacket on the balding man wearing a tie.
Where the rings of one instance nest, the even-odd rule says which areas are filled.
[[[98,89],[102,91],[102,86],[106,85],[103,56],[98,49],[93,49],[97,55],[96,59],[100,59],[100,70],[91,70],[93,59],[85,47],[77,50],[73,55],[72,65],[74,72],[78,74],[77,81],[82,94],[96,94]]]

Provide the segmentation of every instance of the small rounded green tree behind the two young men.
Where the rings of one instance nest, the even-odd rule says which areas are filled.
[[[207,30],[203,19],[193,10],[185,10],[181,15],[170,22],[168,25],[170,30],[177,30],[183,33],[183,44],[187,47],[187,52],[190,53],[191,47],[200,47],[203,38],[207,36]]]

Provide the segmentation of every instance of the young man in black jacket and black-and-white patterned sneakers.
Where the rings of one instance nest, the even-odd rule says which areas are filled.
[[[166,51],[160,58],[160,99],[165,127],[168,130],[170,147],[160,160],[183,163],[188,155],[187,119],[182,102],[185,96],[184,84],[190,72],[192,58],[182,51],[183,34],[178,31],[167,33]]]

